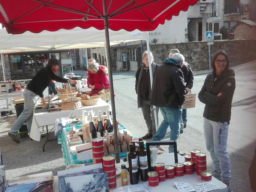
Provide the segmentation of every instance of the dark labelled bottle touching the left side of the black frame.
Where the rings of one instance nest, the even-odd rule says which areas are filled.
[[[147,150],[144,148],[144,142],[140,141],[140,150],[138,152],[139,160],[140,160],[140,180],[147,181],[148,180],[148,158],[147,158]]]

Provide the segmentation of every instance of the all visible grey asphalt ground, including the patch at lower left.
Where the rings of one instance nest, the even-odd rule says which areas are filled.
[[[236,73],[236,90],[228,136],[228,151],[232,166],[231,184],[234,192],[250,192],[247,170],[256,148],[256,129],[254,128],[256,124],[256,61],[238,65],[233,69]],[[74,73],[84,75],[84,71],[74,71]],[[207,73],[207,71],[195,72],[193,93],[199,92]],[[116,118],[137,137],[145,135],[147,128],[141,109],[137,108],[137,95],[134,89],[135,72],[114,72],[113,83],[116,93]],[[203,136],[203,110],[204,105],[197,99],[196,108],[188,110],[187,128],[177,142],[178,148],[187,153],[192,148],[206,152],[207,168],[211,170],[213,166]],[[0,148],[3,163],[6,165],[7,178],[47,171],[57,175],[57,171],[65,169],[61,145],[56,142],[47,143],[46,151],[42,152],[45,138],[40,142],[21,138],[20,144],[11,141],[7,133],[15,118],[16,115],[3,117],[3,122],[0,122]],[[159,122],[162,120],[163,117],[159,113]],[[53,136],[53,132],[51,135]]]

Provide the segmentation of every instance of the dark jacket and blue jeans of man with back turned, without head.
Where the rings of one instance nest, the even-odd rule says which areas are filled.
[[[180,135],[180,120],[182,105],[186,97],[186,85],[180,65],[173,58],[166,58],[164,64],[157,67],[151,93],[151,105],[158,106],[163,122],[157,129],[152,141],[162,140],[170,127],[170,140],[178,139]],[[173,153],[173,146],[169,146],[169,153]]]

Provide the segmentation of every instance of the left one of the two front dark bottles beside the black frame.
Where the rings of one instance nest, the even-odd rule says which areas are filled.
[[[135,152],[134,144],[129,144],[130,151],[128,153],[129,161],[129,174],[130,174],[130,183],[132,185],[138,184],[139,182],[139,171],[137,166],[137,154]]]

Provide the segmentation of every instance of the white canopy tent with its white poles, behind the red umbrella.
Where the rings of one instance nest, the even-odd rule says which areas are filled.
[[[124,29],[120,29],[119,31],[108,29],[108,31],[110,46],[130,41],[146,40],[147,50],[149,52],[148,32],[141,32],[139,30],[128,32]],[[0,29],[0,54],[4,81],[5,72],[3,53],[105,47],[105,45],[105,31],[98,30],[93,27],[86,30],[81,29],[80,27],[75,27],[70,30],[60,29],[56,32],[44,30],[38,34],[26,31],[19,35],[8,34],[6,29]],[[106,54],[106,56],[108,56],[108,54]],[[150,55],[148,55],[148,61],[151,63]],[[153,75],[151,65],[149,65],[149,69],[152,86]],[[153,107],[153,110],[155,119],[157,119],[155,106]],[[157,121],[155,122],[156,128],[158,128]]]

